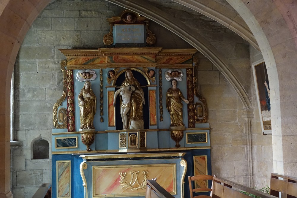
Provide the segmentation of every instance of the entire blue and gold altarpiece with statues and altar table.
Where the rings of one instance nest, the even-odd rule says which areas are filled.
[[[154,47],[149,20],[131,11],[108,21],[109,47],[60,49],[52,196],[140,198],[157,178],[174,197],[188,197],[185,177],[211,175],[198,52]]]

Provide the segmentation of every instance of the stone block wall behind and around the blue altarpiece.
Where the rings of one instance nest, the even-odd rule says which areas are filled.
[[[62,95],[60,62],[65,59],[59,49],[103,47],[103,36],[110,29],[106,18],[118,16],[123,10],[103,0],[52,1],[27,32],[14,70],[15,141],[23,143],[12,150],[14,197],[29,198],[41,183],[51,183],[51,152],[49,159],[33,160],[31,145],[38,137],[49,142],[50,151],[53,145],[53,104]],[[170,13],[170,10],[167,11]],[[184,20],[191,20],[191,15],[184,17]],[[202,20],[198,20],[199,17]],[[206,39],[236,68],[241,80],[248,82],[245,88],[252,96],[254,85],[247,42],[219,24],[218,28],[209,28],[209,19],[203,20],[202,16],[194,18],[197,27],[193,28],[203,32]],[[149,28],[156,34],[156,47],[191,48],[191,45],[157,23],[151,22]],[[249,129],[242,118],[241,99],[208,59],[201,54],[198,54],[198,58],[198,88],[208,103],[208,123],[211,126],[212,173],[248,185]],[[252,99],[256,109],[255,101]],[[258,120],[256,110],[254,114],[254,120]],[[253,172],[258,186],[266,183],[263,178],[272,167],[271,136],[261,135],[260,130],[260,123],[253,122]]]

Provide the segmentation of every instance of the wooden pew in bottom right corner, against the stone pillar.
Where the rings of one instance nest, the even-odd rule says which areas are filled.
[[[271,173],[270,194],[275,197],[296,198],[297,197],[297,178]]]

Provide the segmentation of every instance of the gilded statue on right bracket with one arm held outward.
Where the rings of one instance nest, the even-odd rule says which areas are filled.
[[[171,81],[172,88],[169,88],[166,93],[166,108],[170,114],[171,124],[170,126],[184,126],[183,123],[183,104],[189,103],[187,99],[184,98],[181,90],[176,87],[177,80],[173,79]]]

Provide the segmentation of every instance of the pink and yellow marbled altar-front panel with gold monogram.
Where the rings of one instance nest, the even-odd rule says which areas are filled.
[[[137,174],[137,172],[139,173]],[[157,182],[171,194],[176,194],[175,164],[144,164],[128,166],[93,167],[94,197],[133,197],[144,196],[146,178],[157,178]],[[135,173],[133,173],[135,172]],[[120,183],[119,173],[126,173],[124,184]],[[129,185],[131,184],[131,185]],[[143,188],[140,188],[143,186]]]

